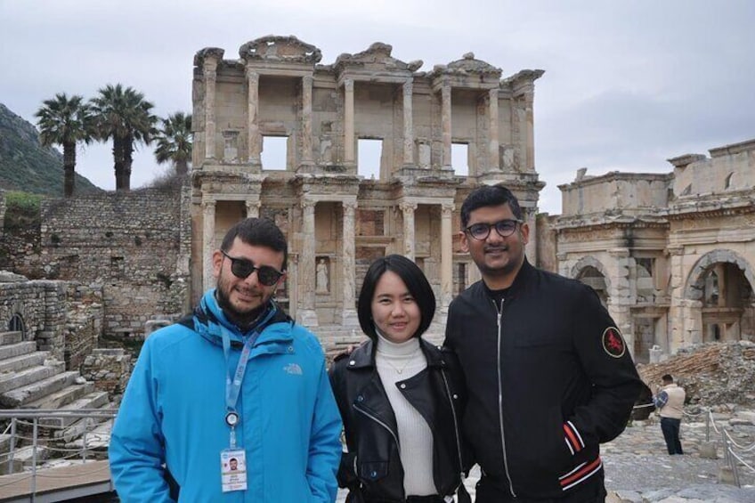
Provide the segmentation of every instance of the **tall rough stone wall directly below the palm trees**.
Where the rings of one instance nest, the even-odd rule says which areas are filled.
[[[152,317],[189,309],[182,201],[159,190],[44,201],[45,272],[101,291],[105,334],[141,337]]]

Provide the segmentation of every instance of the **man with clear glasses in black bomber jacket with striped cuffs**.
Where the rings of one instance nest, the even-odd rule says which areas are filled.
[[[621,434],[642,387],[619,329],[592,288],[529,264],[511,191],[471,192],[461,228],[483,280],[451,303],[445,345],[467,381],[476,502],[603,502],[599,444]]]

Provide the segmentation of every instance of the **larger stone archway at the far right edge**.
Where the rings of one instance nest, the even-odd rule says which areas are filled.
[[[700,305],[700,342],[755,340],[755,273],[736,252],[713,250],[687,275],[684,298]]]

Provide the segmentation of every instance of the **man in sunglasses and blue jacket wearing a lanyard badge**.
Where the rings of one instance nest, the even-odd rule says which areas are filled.
[[[272,300],[287,253],[271,221],[237,223],[213,254],[216,288],[145,341],[110,440],[124,503],[336,499],[324,355]]]

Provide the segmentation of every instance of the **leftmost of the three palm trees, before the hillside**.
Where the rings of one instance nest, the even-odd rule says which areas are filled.
[[[92,142],[93,128],[89,105],[83,96],[57,93],[34,116],[38,119],[39,141],[49,147],[58,144],[63,147],[63,195],[73,196],[76,184],[76,145],[78,142]]]

